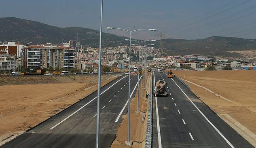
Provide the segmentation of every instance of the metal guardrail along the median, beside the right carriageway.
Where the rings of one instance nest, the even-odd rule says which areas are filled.
[[[148,119],[146,129],[145,148],[152,148],[152,73],[150,78],[150,89],[149,89],[149,100],[148,100]]]

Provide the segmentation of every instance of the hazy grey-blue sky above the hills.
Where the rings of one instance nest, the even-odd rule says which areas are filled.
[[[99,30],[100,0],[0,0],[0,17]],[[104,0],[103,26],[155,28],[167,38],[256,38],[256,0]],[[104,32],[127,36],[126,32]],[[133,38],[156,39],[155,32]]]

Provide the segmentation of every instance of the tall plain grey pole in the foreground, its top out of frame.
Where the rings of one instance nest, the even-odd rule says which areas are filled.
[[[101,49],[102,49],[102,10],[103,0],[101,0],[101,16],[100,16],[100,31],[99,31],[99,67],[98,67],[98,91],[97,91],[97,127],[96,127],[96,142],[95,148],[99,148],[99,103],[100,103],[100,74],[101,74]]]

